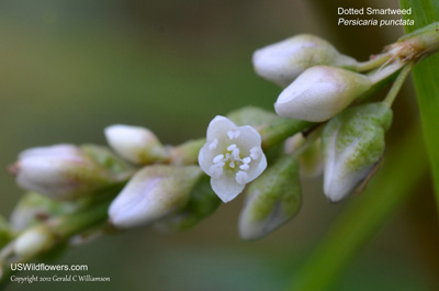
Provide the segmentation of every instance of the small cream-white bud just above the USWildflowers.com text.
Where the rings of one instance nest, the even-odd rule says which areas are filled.
[[[22,258],[32,258],[47,250],[54,243],[54,235],[42,224],[22,233],[14,242],[13,250]]]

